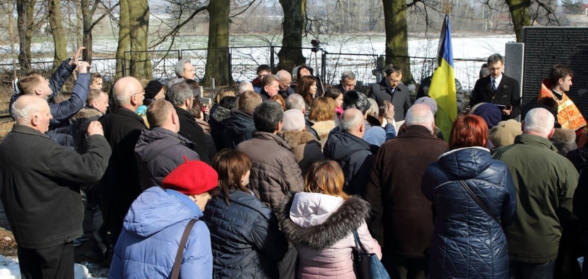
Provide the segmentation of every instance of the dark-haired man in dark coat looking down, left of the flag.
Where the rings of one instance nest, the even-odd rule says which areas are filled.
[[[374,83],[368,93],[368,98],[375,99],[377,105],[383,106],[383,101],[388,100],[394,105],[394,120],[404,120],[405,113],[412,104],[406,85],[402,81],[402,69],[397,66],[387,66],[386,76],[382,81]]]

